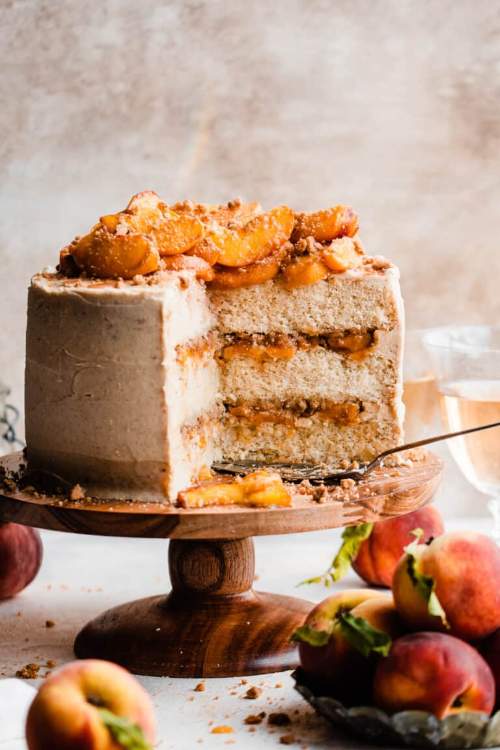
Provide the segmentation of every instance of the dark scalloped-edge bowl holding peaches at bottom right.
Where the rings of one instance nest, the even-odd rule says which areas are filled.
[[[482,748],[500,746],[500,711],[491,718],[475,711],[436,719],[426,711],[401,711],[390,716],[374,706],[347,708],[314,686],[297,669],[295,689],[325,719],[357,737],[387,747]]]

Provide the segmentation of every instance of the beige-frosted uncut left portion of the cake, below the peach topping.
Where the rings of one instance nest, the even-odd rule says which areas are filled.
[[[189,274],[151,286],[78,281],[43,275],[30,288],[29,464],[98,497],[174,501],[217,456],[213,438],[182,433],[217,403],[204,289]],[[201,356],[179,357],[186,342]]]

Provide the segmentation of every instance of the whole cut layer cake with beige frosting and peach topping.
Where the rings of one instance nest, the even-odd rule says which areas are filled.
[[[215,460],[333,467],[397,443],[398,271],[356,230],[344,206],[153,193],[102,217],[32,281],[30,466],[96,497],[175,502]]]

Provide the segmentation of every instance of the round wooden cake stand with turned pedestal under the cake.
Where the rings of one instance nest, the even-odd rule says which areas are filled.
[[[431,500],[442,462],[427,453],[377,469],[351,493],[323,502],[294,492],[290,508],[180,509],[158,503],[72,502],[23,486],[22,454],[0,459],[0,521],[104,536],[169,538],[172,591],[104,612],[78,634],[75,653],[136,674],[229,677],[294,669],[290,642],[311,603],[254,591],[252,536],[371,522]],[[12,478],[13,477],[13,478]],[[21,481],[20,481],[21,477]]]

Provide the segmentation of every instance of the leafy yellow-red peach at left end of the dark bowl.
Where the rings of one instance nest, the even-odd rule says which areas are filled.
[[[294,633],[300,664],[322,690],[352,703],[371,694],[373,655],[401,634],[392,597],[353,589],[328,597]]]

